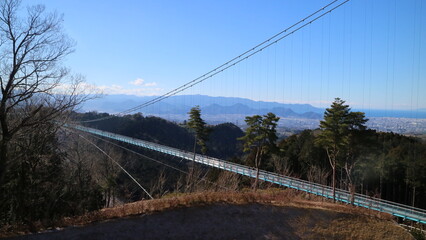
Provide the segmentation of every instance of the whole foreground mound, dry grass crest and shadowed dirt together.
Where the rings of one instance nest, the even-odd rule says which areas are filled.
[[[413,239],[390,215],[273,189],[172,195],[53,225],[62,230],[9,239]],[[28,232],[4,226],[0,237]]]

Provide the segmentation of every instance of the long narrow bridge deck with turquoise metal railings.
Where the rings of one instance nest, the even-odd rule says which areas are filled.
[[[252,178],[256,177],[255,168],[244,166],[241,164],[231,163],[221,159],[208,157],[208,156],[204,156],[200,154],[196,154],[194,159],[194,154],[191,152],[179,150],[172,147],[167,147],[164,145],[160,145],[157,143],[152,143],[152,142],[148,142],[148,141],[144,141],[140,139],[126,137],[116,133],[106,132],[106,131],[102,131],[102,130],[98,130],[94,128],[88,128],[81,125],[66,124],[65,127],[80,130],[83,132],[95,134],[95,135],[110,138],[110,139],[114,139],[117,141],[129,143],[132,145],[151,149],[164,154],[180,157],[186,160],[190,160],[190,161],[194,160],[195,162],[198,162],[204,165],[220,168],[223,170],[231,171],[231,172],[245,175],[248,177],[252,177]],[[275,183],[281,186],[309,192],[309,193],[323,196],[326,198],[331,198],[331,199],[333,198],[333,189],[326,185],[312,183],[312,182],[301,180],[298,178],[279,175],[273,172],[267,172],[263,170],[259,171],[259,179],[266,182]],[[336,189],[336,200],[350,203],[351,194],[348,191],[345,191],[342,189]],[[373,197],[369,197],[362,194],[355,194],[354,205],[380,211],[380,212],[389,213],[397,217],[401,217],[404,219],[409,219],[412,221],[426,224],[425,209],[414,208],[404,204],[399,204],[399,203],[395,203],[395,202],[391,202],[391,201],[387,201],[387,200],[383,200],[379,198],[373,198]]]

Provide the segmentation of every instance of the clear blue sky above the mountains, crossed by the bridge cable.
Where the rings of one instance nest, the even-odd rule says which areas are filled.
[[[31,0],[64,14],[66,64],[105,93],[159,95],[331,1]],[[357,108],[426,108],[426,2],[352,0],[182,94]]]

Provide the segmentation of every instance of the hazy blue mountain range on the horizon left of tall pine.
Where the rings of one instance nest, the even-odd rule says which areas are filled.
[[[107,95],[86,102],[82,111],[118,113],[135,107],[155,97]],[[245,98],[210,97],[205,95],[172,96],[161,102],[140,109],[145,115],[186,115],[194,106],[200,106],[203,115],[254,115],[273,112],[280,117],[320,119],[323,109],[309,104],[283,104],[253,101]]]

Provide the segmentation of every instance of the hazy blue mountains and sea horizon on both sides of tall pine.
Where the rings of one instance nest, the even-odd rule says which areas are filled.
[[[156,96],[139,97],[131,95],[106,95],[86,102],[81,111],[97,111],[107,113],[119,113],[148,102]],[[331,103],[330,103],[331,104]],[[164,99],[148,107],[139,109],[144,115],[154,115],[171,120],[183,121],[188,118],[189,110],[199,105],[201,113],[207,121],[236,122],[244,121],[245,116],[266,114],[273,112],[281,118],[287,119],[311,119],[323,118],[323,108],[317,108],[310,104],[284,104],[278,102],[253,101],[236,97],[211,97],[205,95],[178,95]],[[391,118],[426,118],[425,109],[417,110],[373,110],[353,109],[366,113],[367,118],[391,117]]]

